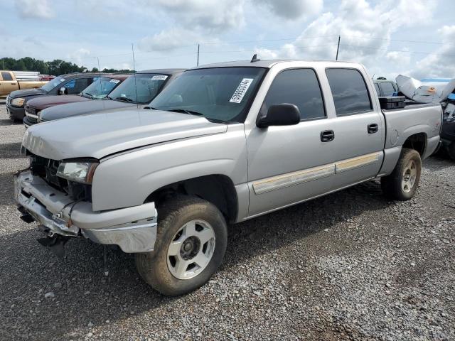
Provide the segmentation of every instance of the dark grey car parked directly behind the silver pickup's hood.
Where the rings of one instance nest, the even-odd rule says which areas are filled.
[[[125,107],[145,106],[185,69],[157,69],[137,72],[124,80],[102,101],[79,102],[44,109],[38,122],[105,112]]]

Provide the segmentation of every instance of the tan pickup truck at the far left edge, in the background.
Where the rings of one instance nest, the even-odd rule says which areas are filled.
[[[0,96],[6,96],[13,91],[36,89],[47,83],[39,72],[28,71],[0,71]]]

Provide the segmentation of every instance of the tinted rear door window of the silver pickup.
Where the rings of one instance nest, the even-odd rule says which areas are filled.
[[[358,70],[326,69],[326,75],[338,116],[360,114],[373,109],[367,85]]]

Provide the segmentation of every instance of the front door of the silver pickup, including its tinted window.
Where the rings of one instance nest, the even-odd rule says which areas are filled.
[[[255,127],[247,136],[249,215],[300,202],[331,190],[336,160],[316,72],[299,68],[280,72],[267,92],[261,113],[272,104],[295,104],[301,121],[294,126]]]

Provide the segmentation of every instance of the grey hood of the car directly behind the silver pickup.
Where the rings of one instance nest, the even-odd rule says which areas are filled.
[[[68,97],[63,96],[63,97]],[[50,107],[44,109],[40,113],[41,121],[52,121],[54,119],[63,119],[64,117],[80,116],[84,114],[93,114],[95,112],[101,112],[103,110],[112,110],[119,108],[136,108],[137,104],[110,101],[108,99],[97,99],[87,102],[77,102],[70,104],[62,104],[58,107]]]

